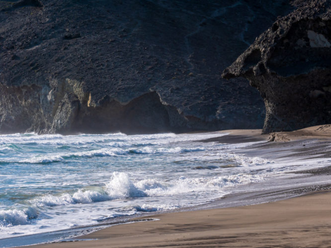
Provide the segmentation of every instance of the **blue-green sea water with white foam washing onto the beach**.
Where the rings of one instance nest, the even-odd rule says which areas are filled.
[[[251,190],[331,162],[314,158],[289,166],[238,153],[264,141],[201,141],[222,135],[0,135],[0,247],[4,238],[194,208],[240,186]]]

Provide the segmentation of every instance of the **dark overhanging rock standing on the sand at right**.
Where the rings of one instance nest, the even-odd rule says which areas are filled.
[[[331,123],[331,1],[312,0],[262,33],[224,78],[246,77],[264,99],[263,133]]]

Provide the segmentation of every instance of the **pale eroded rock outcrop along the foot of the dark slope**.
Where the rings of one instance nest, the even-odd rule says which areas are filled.
[[[0,129],[3,133],[126,133],[193,130],[177,109],[162,103],[156,92],[149,92],[122,104],[106,96],[91,104],[82,84],[65,80],[52,82],[52,88],[37,85],[0,87]]]

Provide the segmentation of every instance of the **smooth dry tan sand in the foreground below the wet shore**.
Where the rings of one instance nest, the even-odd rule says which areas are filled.
[[[155,215],[36,247],[331,247],[331,192],[243,207]]]

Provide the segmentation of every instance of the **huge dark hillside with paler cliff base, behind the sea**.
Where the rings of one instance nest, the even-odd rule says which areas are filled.
[[[286,0],[0,0],[0,133],[261,127],[256,89],[220,74],[292,9]]]

